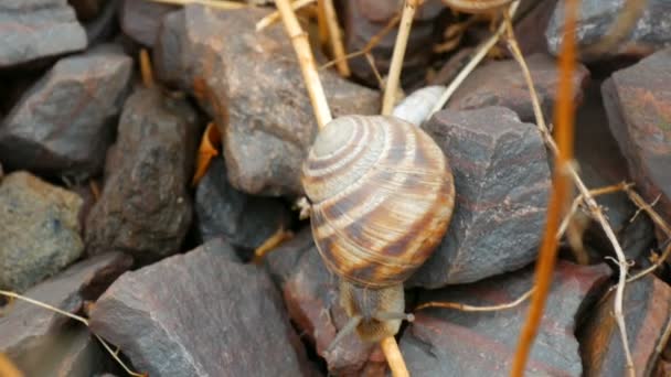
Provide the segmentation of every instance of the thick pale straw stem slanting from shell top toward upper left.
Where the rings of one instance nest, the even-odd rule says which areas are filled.
[[[308,89],[308,94],[310,95],[310,103],[312,104],[312,110],[317,118],[317,125],[319,128],[322,128],[333,118],[331,116],[331,110],[329,109],[329,103],[327,101],[321,80],[319,79],[319,74],[317,73],[315,56],[312,56],[312,51],[310,50],[308,35],[303,32],[300,23],[298,23],[298,19],[296,18],[294,10],[291,10],[289,0],[276,0],[275,4],[281,14],[283,23],[287,34],[289,34],[289,37],[291,39],[296,55],[298,56],[298,64],[300,65],[302,78]]]

